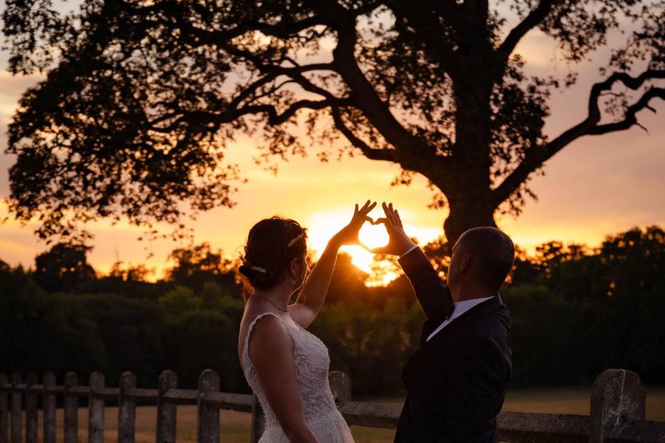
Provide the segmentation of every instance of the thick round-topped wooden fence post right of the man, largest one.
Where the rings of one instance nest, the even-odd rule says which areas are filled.
[[[605,443],[631,421],[644,420],[646,394],[639,375],[623,369],[603,371],[591,392],[589,443]]]

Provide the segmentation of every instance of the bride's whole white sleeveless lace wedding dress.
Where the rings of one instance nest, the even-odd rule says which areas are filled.
[[[252,320],[242,349],[242,370],[245,372],[247,383],[254,390],[265,413],[265,432],[259,443],[289,442],[265,398],[254,370],[254,364],[251,362],[247,350],[251,330],[254,329],[256,321],[266,315],[277,318],[286,327],[293,339],[296,383],[303,399],[305,422],[314,437],[317,437],[319,443],[353,443],[351,431],[346,421],[344,421],[344,417],[335,407],[335,399],[332,398],[330,385],[328,385],[328,370],[330,368],[328,348],[314,334],[300,326],[287,325],[272,312],[264,312]]]

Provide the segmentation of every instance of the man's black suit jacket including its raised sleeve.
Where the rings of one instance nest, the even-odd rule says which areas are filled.
[[[451,312],[450,289],[420,248],[399,262],[427,320],[402,371],[407,399],[395,442],[497,442],[496,417],[512,370],[508,308],[499,296],[490,298],[427,341]]]

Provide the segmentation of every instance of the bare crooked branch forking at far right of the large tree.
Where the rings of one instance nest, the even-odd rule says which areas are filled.
[[[534,147],[524,156],[522,163],[511,172],[504,181],[493,190],[495,204],[497,206],[508,199],[510,195],[519,188],[529,177],[529,174],[537,170],[542,164],[551,159],[551,157],[562,150],[564,147],[586,135],[600,135],[608,132],[617,132],[629,129],[637,123],[637,113],[642,109],[651,109],[649,102],[653,98],[662,98],[665,100],[665,89],[653,87],[648,89],[637,102],[626,108],[626,113],[622,120],[614,123],[605,123],[598,125],[601,120],[601,110],[598,106],[598,98],[604,91],[610,91],[616,82],[623,83],[632,90],[639,89],[647,80],[663,79],[665,71],[650,69],[644,71],[638,77],[632,77],[628,73],[614,73],[607,80],[594,84],[589,95],[589,114],[585,120],[571,127],[567,131],[554,138],[547,145]]]

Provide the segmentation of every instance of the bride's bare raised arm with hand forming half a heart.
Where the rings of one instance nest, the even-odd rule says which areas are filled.
[[[298,300],[289,306],[289,314],[293,320],[302,327],[308,327],[314,318],[317,318],[326,293],[330,286],[332,271],[335,269],[337,253],[339,248],[346,244],[358,244],[358,233],[365,221],[372,221],[367,216],[376,206],[376,202],[366,201],[362,208],[355,205],[355,212],[348,225],[344,226],[337,234],[333,235],[326,249],[321,254],[319,261],[312,269],[309,277],[303,283]]]

